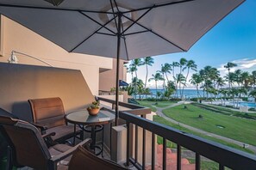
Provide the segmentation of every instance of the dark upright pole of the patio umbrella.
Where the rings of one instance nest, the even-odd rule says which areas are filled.
[[[119,119],[119,60],[120,60],[120,46],[121,46],[121,17],[122,13],[118,13],[118,25],[117,25],[117,55],[116,55],[116,125],[118,125]]]

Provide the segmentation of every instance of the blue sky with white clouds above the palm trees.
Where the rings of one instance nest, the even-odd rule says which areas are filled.
[[[189,52],[166,54],[155,56],[153,67],[149,69],[149,76],[160,65],[180,58],[192,59],[196,62],[198,70],[210,65],[221,71],[222,76],[226,74],[223,65],[228,62],[238,64],[236,69],[251,72],[256,70],[256,0],[247,0],[232,13],[226,16],[202,39],[190,48]],[[145,67],[138,70],[138,77],[145,80]],[[128,74],[127,81],[131,81]],[[150,87],[153,82],[149,82]]]

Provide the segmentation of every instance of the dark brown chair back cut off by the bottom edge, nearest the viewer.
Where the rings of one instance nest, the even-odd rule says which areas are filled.
[[[127,168],[121,167],[120,165],[101,159],[96,155],[93,155],[87,149],[79,146],[72,155],[72,159],[69,162],[69,170],[77,169],[91,169],[91,170],[124,170]]]

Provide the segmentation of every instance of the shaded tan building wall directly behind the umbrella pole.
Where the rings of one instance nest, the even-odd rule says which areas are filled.
[[[120,60],[119,80],[126,81],[126,67],[123,66],[124,61]],[[99,75],[99,89],[110,91],[110,88],[116,87],[116,59],[113,59],[113,69],[107,70]]]

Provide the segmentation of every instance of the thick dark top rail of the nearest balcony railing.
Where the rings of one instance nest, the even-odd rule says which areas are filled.
[[[166,139],[178,143],[180,146],[190,149],[198,155],[203,155],[212,161],[216,161],[225,167],[248,170],[255,169],[256,167],[255,155],[250,155],[246,152],[222,145],[221,143],[215,143],[202,137],[178,131],[165,124],[159,124],[147,120],[146,118],[140,118],[128,112],[121,111],[120,118],[123,118],[129,123],[138,124],[147,131],[165,137]]]

